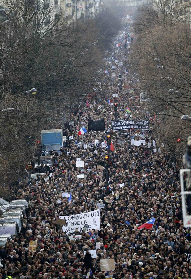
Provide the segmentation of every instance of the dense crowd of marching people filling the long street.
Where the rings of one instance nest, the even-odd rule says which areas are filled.
[[[158,146],[154,133],[157,117],[150,116],[145,102],[140,102],[136,75],[128,73],[128,51],[133,41],[128,34],[124,46],[128,32],[121,32],[107,53],[104,70],[108,73],[103,74],[113,85],[103,87],[105,100],[92,102],[93,108],[89,100],[88,105],[79,105],[71,111],[70,121],[75,125],[64,127],[67,140],[60,151],[54,153],[54,166],[50,171],[43,166],[33,169],[33,172],[44,172],[34,179],[30,179],[28,168],[28,175],[19,182],[17,198],[26,199],[28,209],[20,234],[5,247],[0,246],[2,279],[80,279],[87,278],[88,272],[89,278],[96,279],[107,275],[122,279],[191,277],[191,263],[187,260],[191,253],[191,232],[183,226],[176,163],[172,154]],[[116,41],[120,43],[119,47],[116,47]],[[123,62],[122,66],[120,62]],[[121,70],[124,80],[123,90],[119,91],[117,79]],[[150,131],[112,131],[114,110],[107,99],[113,100],[114,93],[118,94],[118,119],[147,118]],[[128,115],[127,106],[130,108]],[[100,167],[107,152],[101,145],[106,141],[106,132],[88,131],[78,135],[81,126],[88,128],[89,118],[98,120],[102,117],[105,130],[111,131],[114,146],[109,192],[106,191],[106,170]],[[142,132],[145,145],[131,145],[131,139],[141,139]],[[69,140],[69,136],[73,139]],[[98,140],[99,148],[83,148],[83,144],[95,140]],[[156,146],[152,145],[153,140]],[[81,148],[77,146],[79,141]],[[150,148],[148,143],[151,143]],[[76,167],[76,158],[84,161],[84,167]],[[84,178],[78,179],[79,174],[84,174]],[[79,187],[79,183],[83,186]],[[63,192],[72,193],[71,202],[62,197]],[[56,220],[59,216],[93,211],[98,202],[105,204],[100,209],[100,230],[79,232],[76,229],[75,234],[82,237],[70,241],[70,234],[64,233]],[[151,230],[138,229],[152,217],[155,222]],[[37,240],[36,252],[29,251],[30,240]],[[98,242],[97,258],[91,258],[89,253],[84,255],[84,251],[94,250]],[[101,272],[101,259],[114,259],[115,270]]]

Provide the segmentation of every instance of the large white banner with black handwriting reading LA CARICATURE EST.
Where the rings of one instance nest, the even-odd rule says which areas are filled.
[[[79,232],[82,232],[84,225],[89,225],[90,229],[100,230],[100,210],[94,210],[87,213],[81,213],[70,216],[59,216],[60,219],[66,220],[66,225],[62,226],[63,232],[66,234],[75,232],[78,228]]]

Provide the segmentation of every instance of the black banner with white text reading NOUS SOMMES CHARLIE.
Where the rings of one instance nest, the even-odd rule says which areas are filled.
[[[113,131],[122,130],[149,130],[149,120],[118,120],[112,121]]]

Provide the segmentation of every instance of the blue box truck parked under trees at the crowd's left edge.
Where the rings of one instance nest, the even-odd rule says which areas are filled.
[[[63,129],[42,130],[41,142],[43,151],[58,151],[63,146]]]

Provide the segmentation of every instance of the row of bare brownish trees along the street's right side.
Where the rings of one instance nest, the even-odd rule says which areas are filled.
[[[158,138],[175,150],[180,161],[191,128],[189,122],[181,120],[183,114],[191,114],[188,5],[177,0],[153,0],[142,7],[134,19],[136,40],[130,61],[130,68],[140,79],[139,93],[150,99],[142,105],[147,103],[151,115],[158,113]]]

